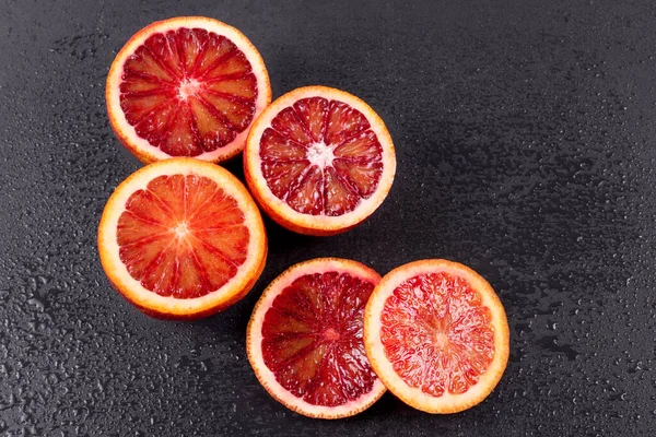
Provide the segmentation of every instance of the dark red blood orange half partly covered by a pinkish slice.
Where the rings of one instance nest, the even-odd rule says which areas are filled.
[[[320,418],[354,415],[383,395],[362,342],[362,314],[379,280],[360,262],[319,258],[291,267],[267,287],[246,349],[269,394]]]

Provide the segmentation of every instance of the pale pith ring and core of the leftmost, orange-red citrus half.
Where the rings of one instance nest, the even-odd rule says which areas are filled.
[[[187,299],[161,296],[143,287],[139,281],[130,275],[127,267],[120,260],[120,247],[117,241],[118,221],[126,210],[126,202],[130,196],[137,190],[145,189],[153,178],[161,175],[191,174],[212,179],[226,194],[235,199],[244,213],[244,225],[249,233],[247,257],[244,263],[238,267],[235,276],[221,288],[204,296]],[[186,238],[188,234],[187,224],[181,222],[171,232],[177,234],[178,238]],[[238,294],[246,284],[251,282],[253,275],[266,257],[266,244],[263,241],[266,241],[263,223],[257,205],[246,188],[222,167],[191,158],[166,160],[148,165],[121,182],[105,205],[98,232],[101,261],[115,286],[136,305],[171,315],[200,312],[230,300],[235,294]]]

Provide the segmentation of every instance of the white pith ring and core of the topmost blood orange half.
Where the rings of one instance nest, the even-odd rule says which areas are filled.
[[[110,110],[112,122],[115,125],[115,129],[127,137],[130,144],[139,151],[143,151],[150,155],[154,161],[171,158],[172,155],[163,152],[160,147],[152,145],[148,140],[139,137],[137,130],[131,126],[120,107],[120,82],[124,71],[124,64],[126,60],[134,52],[134,50],[141,46],[150,36],[155,33],[165,33],[168,31],[175,31],[180,27],[188,28],[203,28],[208,32],[212,32],[216,35],[223,35],[237,46],[237,48],[246,56],[246,59],[253,68],[253,72],[257,79],[257,97],[255,101],[255,114],[253,120],[255,120],[259,114],[267,107],[271,101],[271,90],[269,86],[269,76],[265,62],[260,55],[257,52],[253,44],[236,28],[221,23],[216,20],[207,19],[203,16],[187,16],[178,17],[173,20],[166,20],[151,24],[148,29],[149,32],[137,33],[124,46],[124,48],[116,56],[115,63],[109,70],[107,75],[107,106],[113,108]],[[189,82],[189,85],[192,85]],[[178,90],[178,95],[186,98],[189,96],[190,86],[183,86]],[[238,133],[235,139],[222,147],[219,147],[211,152],[204,152],[200,155],[194,156],[197,160],[202,161],[218,161],[224,157],[233,156],[244,147],[246,138],[248,137],[248,128],[244,129]]]

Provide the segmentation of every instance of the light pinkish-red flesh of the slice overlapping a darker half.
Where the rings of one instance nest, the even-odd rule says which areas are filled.
[[[385,302],[380,323],[395,371],[430,395],[466,392],[494,357],[490,309],[467,281],[446,272],[405,281]]]

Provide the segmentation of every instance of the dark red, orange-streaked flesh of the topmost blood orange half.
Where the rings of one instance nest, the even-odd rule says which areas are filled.
[[[224,146],[255,115],[250,62],[233,42],[201,28],[151,35],[128,58],[121,79],[126,119],[172,156]]]

